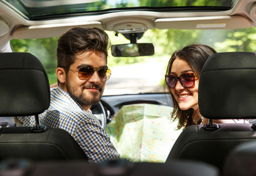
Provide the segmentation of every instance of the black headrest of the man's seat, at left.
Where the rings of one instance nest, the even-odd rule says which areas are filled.
[[[0,53],[0,117],[40,114],[49,104],[49,80],[38,58]]]

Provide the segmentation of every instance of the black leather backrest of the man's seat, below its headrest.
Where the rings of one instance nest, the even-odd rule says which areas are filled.
[[[28,158],[32,161],[85,159],[77,142],[62,129],[33,133],[31,127],[2,128],[0,159]]]

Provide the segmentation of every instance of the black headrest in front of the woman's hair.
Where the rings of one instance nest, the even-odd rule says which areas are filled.
[[[199,109],[209,119],[256,118],[256,56],[252,52],[210,56],[199,79]]]

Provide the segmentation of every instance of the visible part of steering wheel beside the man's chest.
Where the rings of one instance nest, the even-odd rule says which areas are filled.
[[[102,128],[105,129],[107,125],[107,114],[102,103],[99,102],[98,104],[91,106],[90,110],[92,111],[93,115],[97,117],[102,125]]]

